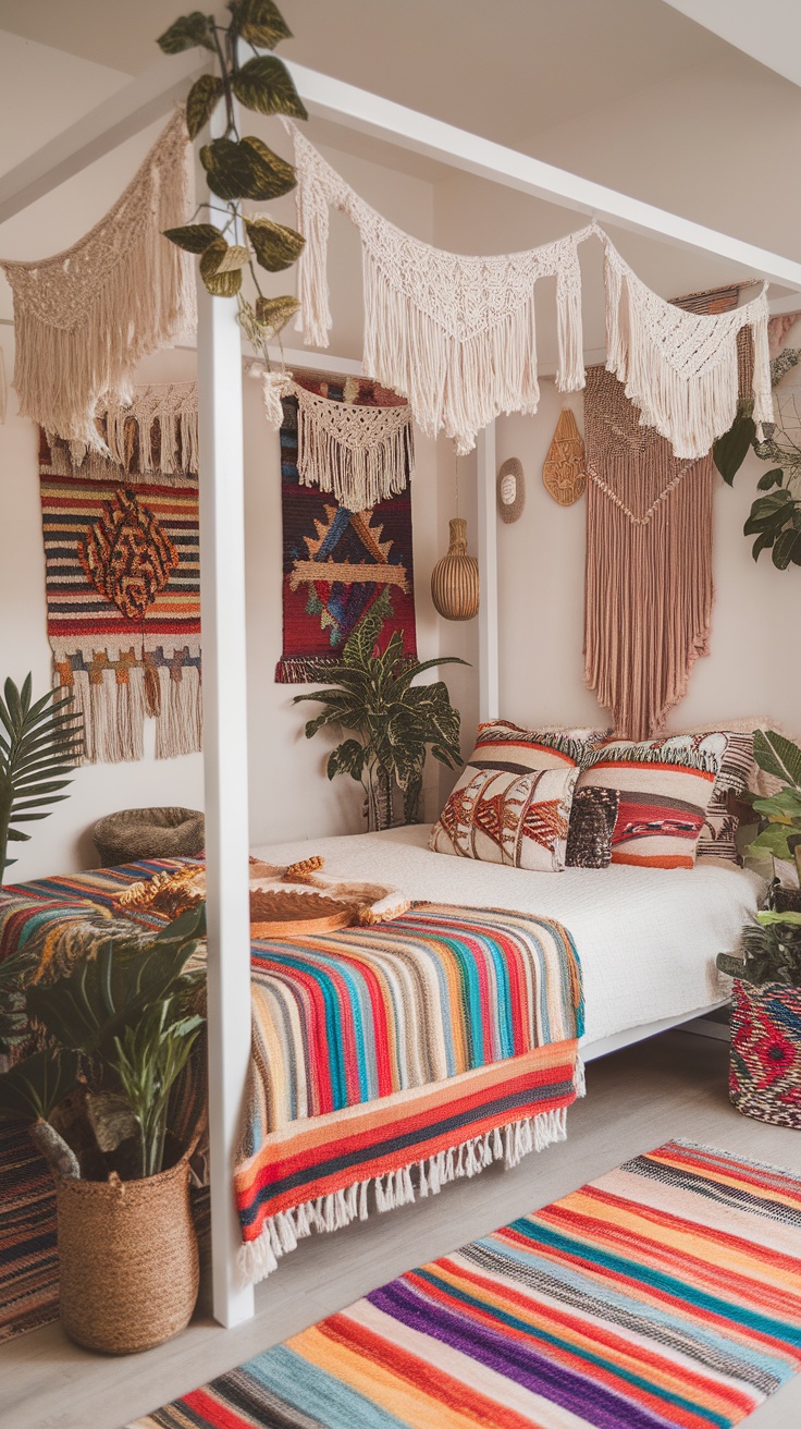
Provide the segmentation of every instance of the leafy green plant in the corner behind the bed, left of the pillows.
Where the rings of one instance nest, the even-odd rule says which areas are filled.
[[[384,620],[370,610],[343,649],[343,659],[326,666],[331,684],[298,700],[317,700],[323,709],[306,726],[313,739],[326,725],[353,730],[328,756],[328,779],[350,775],[361,783],[367,825],[386,829],[393,822],[393,792],[403,793],[404,822],[420,816],[423,769],[428,747],[448,769],[461,765],[460,717],[443,680],[413,684],[424,670],[440,664],[465,664],[458,656],[434,660],[404,659],[403,636],[396,632],[384,652],[377,649]]]

